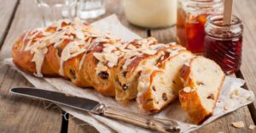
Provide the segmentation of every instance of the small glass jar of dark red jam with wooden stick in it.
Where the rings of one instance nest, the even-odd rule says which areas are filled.
[[[205,37],[205,57],[214,60],[227,75],[233,74],[241,66],[243,25],[236,16],[230,25],[223,24],[223,15],[207,18]]]

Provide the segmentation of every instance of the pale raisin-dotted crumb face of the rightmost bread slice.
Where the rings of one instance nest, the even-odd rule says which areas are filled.
[[[191,62],[191,79],[194,82],[201,104],[208,111],[212,112],[218,99],[220,83],[222,83],[224,73],[212,60],[198,57]]]

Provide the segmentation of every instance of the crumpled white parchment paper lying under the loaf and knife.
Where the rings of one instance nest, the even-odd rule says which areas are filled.
[[[105,19],[101,19],[97,21],[92,25],[95,26],[96,29],[109,31],[113,35],[119,36],[124,41],[127,41],[127,42],[135,38],[141,38],[140,36],[137,36],[137,34],[131,32],[131,30],[128,30],[127,28],[125,28],[124,25],[121,25],[121,23],[119,22],[119,19],[114,14],[111,16],[108,16]],[[15,68],[15,65],[12,62],[12,58],[6,58],[4,60],[4,64],[9,64]],[[19,69],[17,70],[20,71]],[[101,103],[105,103],[107,106],[122,108],[125,110],[136,112],[137,114],[143,114],[143,112],[141,112],[137,107],[136,102],[131,102],[128,106],[123,106],[117,103],[113,97],[104,97],[93,89],[89,89],[89,88],[84,89],[84,88],[79,88],[77,86],[73,86],[72,82],[69,80],[64,80],[61,78],[37,78],[32,75],[27,75],[21,71],[20,73],[24,75],[26,79],[32,83],[32,85],[38,88],[49,90],[49,91],[61,91],[63,93],[67,93],[77,97],[86,97],[92,100],[99,101]],[[187,114],[183,111],[178,101],[170,104],[167,108],[162,110],[159,114],[153,114],[151,116],[162,118],[162,119],[176,120],[178,125],[181,126],[182,132],[189,132],[192,130],[196,130],[212,122],[214,119],[218,119],[224,114],[228,114],[236,110],[237,108],[241,108],[242,106],[245,106],[249,103],[253,103],[253,100],[254,100],[253,91],[247,91],[245,89],[242,89],[241,86],[243,86],[244,83],[245,83],[244,80],[232,78],[232,77],[226,77],[226,80],[224,81],[224,86],[222,88],[222,91],[218,99],[217,107],[214,109],[212,117],[207,119],[207,121],[205,121],[200,126],[191,124]],[[235,90],[237,90],[239,93],[236,94],[236,96],[234,97],[230,97],[231,93],[233,93]],[[231,108],[226,110],[224,109],[224,106],[227,105],[228,103],[232,104],[233,106],[231,106]],[[76,109],[68,108],[62,105],[58,105],[58,106],[63,110],[65,110],[68,114],[72,114],[74,117],[84,120],[85,122],[94,126],[96,130],[99,130],[100,132],[104,132],[104,133],[113,132],[113,131],[127,132],[127,133],[128,132],[129,133],[152,132],[152,130],[143,129],[136,125],[130,125],[122,121],[104,118],[102,116],[98,116],[95,114],[84,113]]]

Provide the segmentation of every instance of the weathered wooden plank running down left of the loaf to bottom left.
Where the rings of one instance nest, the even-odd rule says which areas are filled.
[[[29,7],[29,8],[27,8]],[[34,0],[20,2],[9,34],[6,37],[1,58],[10,56],[12,44],[22,30],[38,26],[38,16]],[[60,132],[61,115],[56,108],[44,108],[44,104],[31,98],[9,93],[14,86],[32,86],[27,80],[9,66],[0,69],[0,130],[1,132]]]

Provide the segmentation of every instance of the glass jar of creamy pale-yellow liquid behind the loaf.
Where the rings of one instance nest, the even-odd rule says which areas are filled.
[[[123,0],[123,5],[133,25],[160,28],[177,22],[177,0]]]

